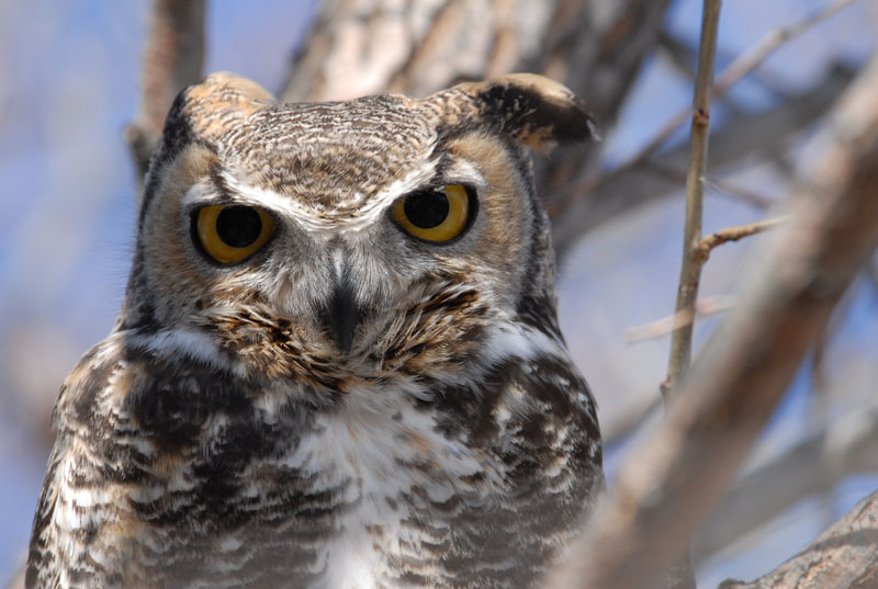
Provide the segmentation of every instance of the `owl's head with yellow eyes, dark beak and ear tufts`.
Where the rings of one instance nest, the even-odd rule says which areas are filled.
[[[335,387],[453,372],[513,325],[560,338],[526,147],[592,134],[533,75],[314,104],[210,76],[168,114],[120,328]]]

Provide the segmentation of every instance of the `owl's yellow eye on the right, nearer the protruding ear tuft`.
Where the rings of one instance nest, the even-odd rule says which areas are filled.
[[[393,220],[410,235],[441,243],[463,233],[470,219],[470,194],[460,184],[413,192],[393,206]]]

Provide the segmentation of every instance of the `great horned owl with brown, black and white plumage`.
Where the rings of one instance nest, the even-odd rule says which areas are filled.
[[[26,585],[533,587],[603,484],[513,75],[168,114],[113,332],[65,382]]]

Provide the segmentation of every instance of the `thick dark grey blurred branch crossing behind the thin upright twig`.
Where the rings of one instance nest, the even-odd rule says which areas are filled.
[[[722,128],[713,132],[708,166],[717,170],[781,149],[796,134],[820,118],[853,79],[854,72],[837,66],[803,94],[790,97],[761,113],[728,117]],[[588,197],[573,204],[564,215],[550,204],[559,259],[563,259],[587,231],[679,189],[678,177],[672,178],[665,170],[684,170],[687,156],[688,146],[680,145],[653,160],[644,160],[645,166],[622,165],[584,188]]]

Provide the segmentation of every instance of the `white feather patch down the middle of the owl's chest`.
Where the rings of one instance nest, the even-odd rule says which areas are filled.
[[[398,403],[406,396],[399,387],[352,389],[345,408],[319,415],[315,430],[283,461],[320,477],[323,485],[350,483],[345,501],[351,507],[338,522],[345,532],[323,547],[316,563],[316,570],[325,567],[327,587],[371,589],[382,577],[386,554],[419,544],[402,525],[407,512],[401,496],[413,487],[424,489],[431,501],[446,501],[468,475],[487,473],[494,485],[503,485],[469,449],[437,431],[432,412]],[[419,461],[440,466],[430,472],[414,466]],[[437,471],[444,473],[442,478]],[[373,535],[375,528],[382,533]]]

